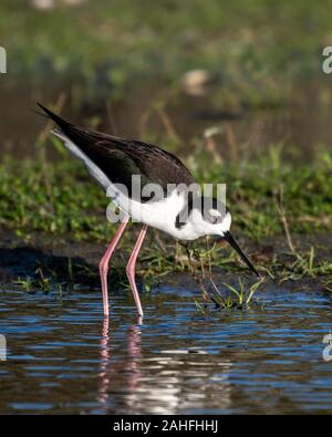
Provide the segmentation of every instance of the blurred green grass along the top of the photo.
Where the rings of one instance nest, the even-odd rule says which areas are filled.
[[[216,101],[278,103],[294,80],[318,75],[330,34],[328,0],[86,1],[38,11],[2,0],[0,41],[11,75],[74,79],[87,94],[122,95],[156,77],[177,87],[181,74],[217,76]]]

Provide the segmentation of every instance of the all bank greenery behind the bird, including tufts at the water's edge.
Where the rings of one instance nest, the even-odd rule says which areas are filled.
[[[266,157],[253,156],[250,162],[230,164],[222,168],[221,180],[220,165],[209,166],[208,171],[201,171],[203,168],[208,168],[204,163],[210,158],[205,155],[197,157],[194,154],[198,159],[194,167],[200,169],[195,175],[201,183],[228,184],[227,200],[235,218],[234,232],[243,237],[242,241],[247,247],[248,243],[249,247],[252,243],[260,244],[266,239],[273,241],[279,238],[283,241],[282,251],[271,256],[260,256],[260,249],[256,251],[258,258],[253,258],[253,261],[262,274],[280,282],[331,275],[332,263],[325,254],[318,257],[313,247],[308,252],[307,249],[297,247],[292,238],[297,235],[312,236],[318,230],[322,232],[330,229],[332,157],[328,152],[321,150],[311,166],[308,166],[282,163],[280,154],[280,147],[272,147]],[[193,156],[188,164],[190,163],[193,165]],[[110,199],[91,179],[84,166],[75,159],[64,157],[63,160],[51,164],[42,158],[34,163],[18,163],[17,159],[8,158],[0,165],[0,225],[27,240],[31,233],[42,231],[74,241],[105,242],[115,229],[105,217]],[[286,233],[289,235],[288,239]],[[125,233],[124,251],[129,251],[131,238],[131,232]],[[203,240],[190,247],[187,253],[191,258],[191,266],[188,264],[185,249],[162,233],[146,244],[137,271],[144,278],[146,291],[157,278],[174,271],[190,270],[204,293],[204,280],[209,277],[205,275],[206,267],[210,273],[212,269],[220,268],[228,272],[247,271],[227,246],[205,248]],[[92,279],[97,282],[95,268],[72,266],[72,260],[69,259],[64,270],[61,278],[65,278],[65,283],[73,284],[82,278],[84,281]],[[113,269],[112,274],[118,284],[126,284],[123,266]],[[32,285],[50,290],[51,282],[58,287],[62,283],[59,273],[49,268],[40,269],[33,283],[25,279],[20,281],[27,290]],[[325,279],[324,281],[325,289],[329,290],[330,282]],[[248,301],[247,290],[251,296],[251,288],[248,287],[240,284],[237,289],[237,305]],[[234,300],[224,302],[222,308],[228,308],[231,302]]]

